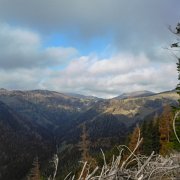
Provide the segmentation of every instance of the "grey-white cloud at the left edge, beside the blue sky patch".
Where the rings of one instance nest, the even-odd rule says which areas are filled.
[[[0,69],[60,66],[77,54],[72,47],[43,47],[39,34],[0,24]]]

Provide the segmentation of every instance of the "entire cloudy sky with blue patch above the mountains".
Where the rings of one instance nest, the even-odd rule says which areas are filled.
[[[0,0],[0,88],[111,98],[172,90],[179,0]]]

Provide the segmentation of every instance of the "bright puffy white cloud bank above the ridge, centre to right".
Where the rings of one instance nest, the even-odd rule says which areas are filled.
[[[102,67],[101,67],[102,65]],[[63,71],[52,72],[44,87],[100,97],[122,92],[175,88],[175,62],[155,63],[144,55],[117,55],[109,59],[80,57]]]

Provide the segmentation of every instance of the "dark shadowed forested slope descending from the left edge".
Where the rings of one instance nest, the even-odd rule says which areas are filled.
[[[52,134],[0,102],[0,179],[25,177],[34,158],[44,164],[54,148]]]

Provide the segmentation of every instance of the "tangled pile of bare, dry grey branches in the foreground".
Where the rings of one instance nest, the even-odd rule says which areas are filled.
[[[140,131],[139,131],[140,132]],[[139,134],[140,137],[140,134]],[[131,151],[127,146],[119,147],[119,155],[112,158],[112,162],[107,164],[106,158],[103,154],[104,165],[98,166],[89,171],[89,165],[84,163],[79,177],[69,174],[65,179],[73,180],[157,180],[157,179],[179,179],[180,178],[180,154],[174,153],[163,157],[155,155],[154,151],[150,156],[143,156],[136,154],[138,147],[143,139],[138,138],[136,147]],[[123,152],[127,149],[129,155],[123,160]]]

